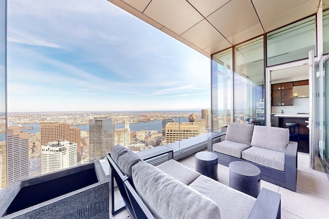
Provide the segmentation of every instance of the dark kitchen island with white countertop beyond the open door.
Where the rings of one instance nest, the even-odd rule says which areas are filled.
[[[298,123],[299,124],[299,138],[298,138],[298,151],[309,152],[308,145],[308,123],[309,114],[288,114],[288,113],[277,113],[274,115],[275,127],[288,128],[286,123]],[[296,133],[298,133],[298,127],[296,127]]]

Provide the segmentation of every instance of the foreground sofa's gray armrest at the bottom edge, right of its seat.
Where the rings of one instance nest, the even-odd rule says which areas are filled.
[[[248,219],[281,218],[281,195],[266,188],[262,188]]]

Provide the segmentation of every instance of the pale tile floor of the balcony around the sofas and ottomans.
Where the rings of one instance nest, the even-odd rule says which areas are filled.
[[[194,154],[179,161],[181,164],[195,169]],[[316,158],[315,169],[309,168],[309,155],[298,152],[297,192],[277,185],[261,181],[265,187],[281,194],[281,218],[329,218],[329,180],[319,158]],[[228,185],[229,169],[218,164],[218,181]],[[130,218],[123,211],[110,218]]]

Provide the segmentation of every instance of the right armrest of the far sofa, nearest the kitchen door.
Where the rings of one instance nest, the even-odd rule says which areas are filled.
[[[297,184],[297,142],[289,142],[284,153],[285,188],[296,192]]]

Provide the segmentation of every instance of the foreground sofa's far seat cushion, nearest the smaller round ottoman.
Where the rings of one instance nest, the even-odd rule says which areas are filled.
[[[157,168],[185,185],[190,185],[197,177],[201,175],[200,173],[187,168],[175,160],[170,160],[160,164]]]

